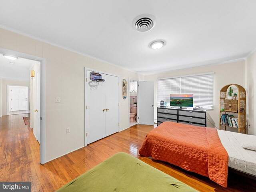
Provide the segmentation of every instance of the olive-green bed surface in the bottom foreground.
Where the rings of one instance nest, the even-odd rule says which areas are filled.
[[[195,192],[164,172],[119,152],[57,192]]]

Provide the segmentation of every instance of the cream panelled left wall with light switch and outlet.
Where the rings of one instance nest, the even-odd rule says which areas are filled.
[[[2,48],[46,59],[46,161],[84,146],[84,67],[120,76],[120,130],[129,127],[122,80],[142,75],[8,30],[0,29],[0,37]]]

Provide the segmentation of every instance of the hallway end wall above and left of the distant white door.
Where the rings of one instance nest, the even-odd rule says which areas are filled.
[[[7,115],[7,85],[30,86],[30,82],[2,79],[2,116]]]

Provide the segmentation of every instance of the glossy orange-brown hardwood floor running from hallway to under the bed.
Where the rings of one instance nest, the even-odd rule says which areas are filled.
[[[202,192],[252,192],[254,180],[229,174],[228,188],[204,176],[171,164],[139,156],[138,150],[153,126],[135,125],[96,141],[44,165],[40,165],[39,144],[25,125],[28,114],[0,117],[0,181],[31,181],[32,192],[52,192],[117,152],[126,152]]]

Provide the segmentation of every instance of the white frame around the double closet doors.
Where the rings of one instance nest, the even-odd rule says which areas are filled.
[[[84,146],[87,146],[87,138],[86,138],[86,133],[87,133],[87,111],[86,111],[86,106],[87,106],[87,83],[86,83],[86,78],[87,78],[87,71],[94,71],[94,72],[98,72],[98,73],[103,73],[106,75],[111,75],[111,76],[115,76],[118,77],[118,94],[120,94],[120,76],[116,75],[116,74],[111,74],[108,72],[103,72],[100,70],[95,70],[92,68],[84,68]],[[118,126],[118,132],[120,132],[120,96],[118,95],[118,122],[119,122],[119,126]]]

